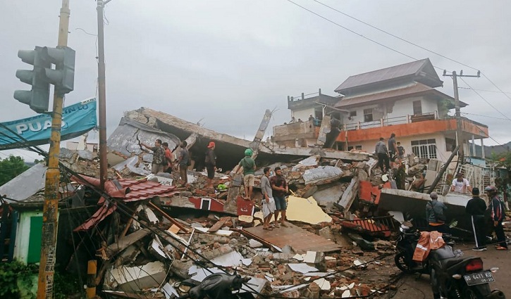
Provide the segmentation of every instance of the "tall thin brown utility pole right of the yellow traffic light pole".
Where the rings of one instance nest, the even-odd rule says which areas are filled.
[[[99,104],[99,182],[101,189],[108,175],[108,161],[106,160],[106,78],[105,78],[105,49],[104,49],[104,6],[111,0],[97,0],[97,83]]]

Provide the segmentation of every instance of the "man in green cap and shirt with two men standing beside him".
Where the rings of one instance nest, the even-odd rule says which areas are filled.
[[[245,199],[252,200],[252,191],[254,189],[254,172],[256,164],[252,155],[251,148],[245,150],[245,157],[240,160],[240,167],[243,169],[243,186],[245,188]],[[285,224],[285,210],[288,204],[285,196],[289,193],[288,182],[282,175],[281,167],[275,167],[273,174],[270,167],[264,167],[264,176],[261,178],[261,193],[263,195],[261,204],[263,212],[263,229],[273,230],[270,225],[271,216],[275,215],[275,224],[273,227],[287,227]],[[281,224],[278,224],[278,215],[281,215]]]

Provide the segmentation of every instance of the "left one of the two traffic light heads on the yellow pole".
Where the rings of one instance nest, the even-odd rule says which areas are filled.
[[[42,47],[36,46],[35,50],[20,50],[18,57],[21,61],[33,65],[32,70],[16,70],[16,77],[21,82],[32,85],[32,90],[16,90],[14,98],[30,106],[37,113],[43,113],[49,106],[49,82],[44,70],[51,67],[51,63],[42,59]]]

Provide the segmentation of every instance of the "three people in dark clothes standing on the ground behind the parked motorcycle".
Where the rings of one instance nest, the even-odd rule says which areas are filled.
[[[465,212],[471,217],[472,230],[474,232],[474,239],[476,246],[472,250],[484,251],[486,250],[486,234],[488,233],[488,220],[486,214],[486,201],[479,197],[479,188],[471,188],[472,198],[467,202]],[[507,250],[507,242],[505,239],[504,229],[502,222],[505,217],[505,208],[503,201],[497,196],[497,189],[495,186],[487,186],[484,189],[489,199],[489,213],[490,222],[497,236],[498,244],[495,246],[496,250]],[[441,233],[448,233],[448,226],[446,224],[445,210],[447,207],[444,203],[438,201],[436,192],[431,192],[429,195],[431,201],[426,203],[426,220],[428,221],[429,231],[439,231]]]

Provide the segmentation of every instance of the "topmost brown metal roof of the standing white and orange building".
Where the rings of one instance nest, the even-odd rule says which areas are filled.
[[[435,79],[438,79],[438,81],[441,82],[433,68],[433,65],[431,64],[431,61],[429,61],[429,58],[426,58],[420,61],[412,61],[411,63],[395,65],[390,68],[382,68],[381,70],[374,70],[350,76],[345,80],[345,82],[341,83],[339,87],[335,89],[335,92],[344,94],[344,91],[354,87],[362,87],[364,85],[383,82],[390,79],[418,75],[424,68],[426,68],[428,75],[436,77]]]

